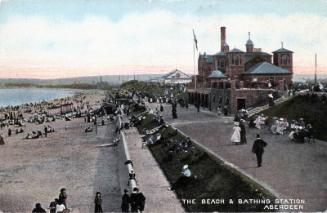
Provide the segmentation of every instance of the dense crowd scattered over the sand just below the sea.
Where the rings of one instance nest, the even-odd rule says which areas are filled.
[[[69,121],[73,117],[80,117],[82,114],[92,113],[92,107],[88,102],[83,101],[84,98],[84,95],[77,94],[74,97],[55,99],[52,101],[1,107],[0,130],[7,131],[7,137],[11,137],[13,133],[18,135],[27,132],[27,123],[36,125],[43,124],[43,128],[36,127],[30,130],[30,132],[27,132],[23,138],[37,139],[40,137],[47,137],[49,133],[55,131],[54,128],[48,124],[49,122],[55,122],[57,119]],[[60,108],[62,105],[72,105],[72,107],[69,108],[68,111],[63,111]],[[57,110],[56,113],[52,112],[53,109],[57,109],[58,107],[61,110]],[[1,137],[4,139],[3,133]]]

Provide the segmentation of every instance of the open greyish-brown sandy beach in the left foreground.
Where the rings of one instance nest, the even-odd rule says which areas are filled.
[[[87,91],[83,102],[96,108],[104,93]],[[74,103],[75,105],[76,103]],[[24,118],[32,114],[24,113]],[[99,121],[100,122],[100,119]],[[50,125],[55,132],[47,137],[23,139],[28,132]],[[24,133],[8,137],[2,128],[5,145],[0,146],[0,210],[31,212],[35,203],[43,208],[66,188],[67,205],[73,212],[94,211],[94,196],[100,191],[104,211],[118,211],[120,188],[117,177],[117,153],[112,147],[100,147],[113,140],[113,124],[106,120],[95,131],[84,117],[71,121],[56,119],[44,124],[25,122]],[[88,126],[94,131],[85,133]]]

